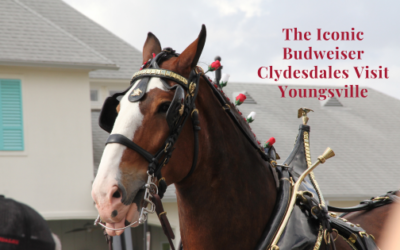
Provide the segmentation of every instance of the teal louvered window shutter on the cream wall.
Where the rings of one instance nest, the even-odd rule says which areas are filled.
[[[24,150],[20,80],[0,79],[0,150]]]

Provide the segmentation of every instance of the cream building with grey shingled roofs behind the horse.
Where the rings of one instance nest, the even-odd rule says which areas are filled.
[[[91,184],[108,136],[97,120],[104,99],[128,87],[141,52],[61,0],[2,0],[0,11],[0,194],[42,214],[63,249],[106,249],[101,230],[91,226]],[[275,85],[229,83],[224,91],[231,98],[247,92],[240,110],[257,112],[253,131],[261,141],[276,138],[281,162],[301,123],[297,109],[315,111],[312,159],[327,146],[336,152],[315,171],[331,205],[398,188],[399,100],[372,89],[365,99],[326,102],[282,99]],[[163,200],[177,245],[173,186]],[[157,218],[149,223],[151,249],[168,249]],[[73,229],[83,230],[66,233]],[[143,249],[142,228],[126,236]]]

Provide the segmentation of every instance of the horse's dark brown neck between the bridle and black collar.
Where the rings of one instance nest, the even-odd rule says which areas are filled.
[[[269,166],[212,97],[204,103],[199,95],[208,112],[200,113],[196,171],[176,184],[183,244],[185,249],[251,249],[274,208],[275,182]]]

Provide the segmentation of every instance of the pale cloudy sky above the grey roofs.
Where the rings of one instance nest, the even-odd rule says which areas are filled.
[[[147,32],[163,47],[182,51],[207,27],[200,65],[222,57],[231,82],[330,85],[358,84],[400,99],[400,2],[388,1],[131,1],[64,0],[129,44],[142,49]],[[285,41],[284,28],[310,31],[310,41]],[[323,31],[364,32],[362,41],[317,41]],[[293,50],[363,50],[361,60],[283,60],[283,48]],[[315,65],[349,71],[348,79],[260,79],[261,66],[311,70]],[[354,67],[387,67],[389,79],[358,79]],[[132,69],[135,71],[136,69]]]

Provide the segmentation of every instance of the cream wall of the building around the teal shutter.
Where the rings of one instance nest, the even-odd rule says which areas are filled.
[[[94,218],[87,70],[0,67],[21,79],[25,150],[0,151],[0,193],[45,219]]]

